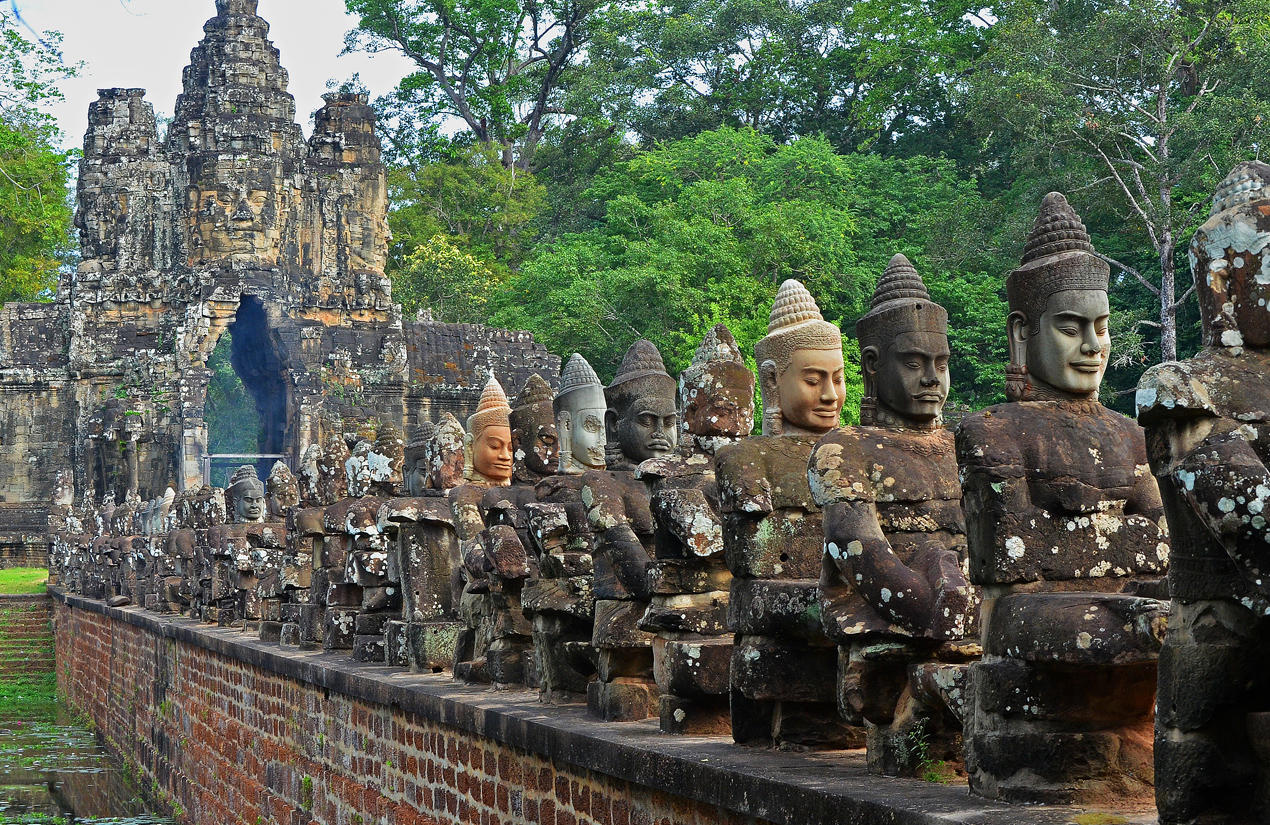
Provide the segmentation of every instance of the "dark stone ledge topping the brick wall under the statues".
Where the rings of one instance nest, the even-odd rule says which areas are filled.
[[[668,736],[657,721],[605,723],[582,706],[544,706],[527,690],[495,692],[363,665],[340,654],[290,651],[241,631],[159,616],[141,608],[50,595],[66,605],[126,622],[155,636],[202,647],[262,670],[364,702],[396,707],[555,763],[593,770],[674,796],[786,825],[1151,825],[1154,811],[1020,807],[972,798],[964,784],[872,777],[864,751],[789,754],[739,748],[723,736]],[[22,597],[25,598],[25,597]]]

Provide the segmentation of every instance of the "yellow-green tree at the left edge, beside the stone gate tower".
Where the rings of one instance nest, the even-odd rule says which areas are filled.
[[[41,110],[61,98],[61,37],[30,41],[0,11],[0,303],[47,297],[70,251],[69,154]]]

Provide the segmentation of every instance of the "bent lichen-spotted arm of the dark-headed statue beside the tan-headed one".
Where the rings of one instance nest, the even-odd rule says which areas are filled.
[[[914,633],[932,623],[935,591],[911,570],[881,531],[872,501],[837,501],[824,509],[826,552],[842,578],[888,621]]]

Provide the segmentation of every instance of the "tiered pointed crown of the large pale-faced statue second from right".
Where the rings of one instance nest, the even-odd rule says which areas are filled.
[[[1010,311],[1022,312],[1035,327],[1049,296],[1063,289],[1106,292],[1110,282],[1111,268],[1095,255],[1081,216],[1066,197],[1050,192],[1027,236],[1022,263],[1006,278]]]

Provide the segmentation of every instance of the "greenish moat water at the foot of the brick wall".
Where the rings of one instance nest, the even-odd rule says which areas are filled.
[[[171,825],[65,708],[24,715],[0,710],[0,825]]]

